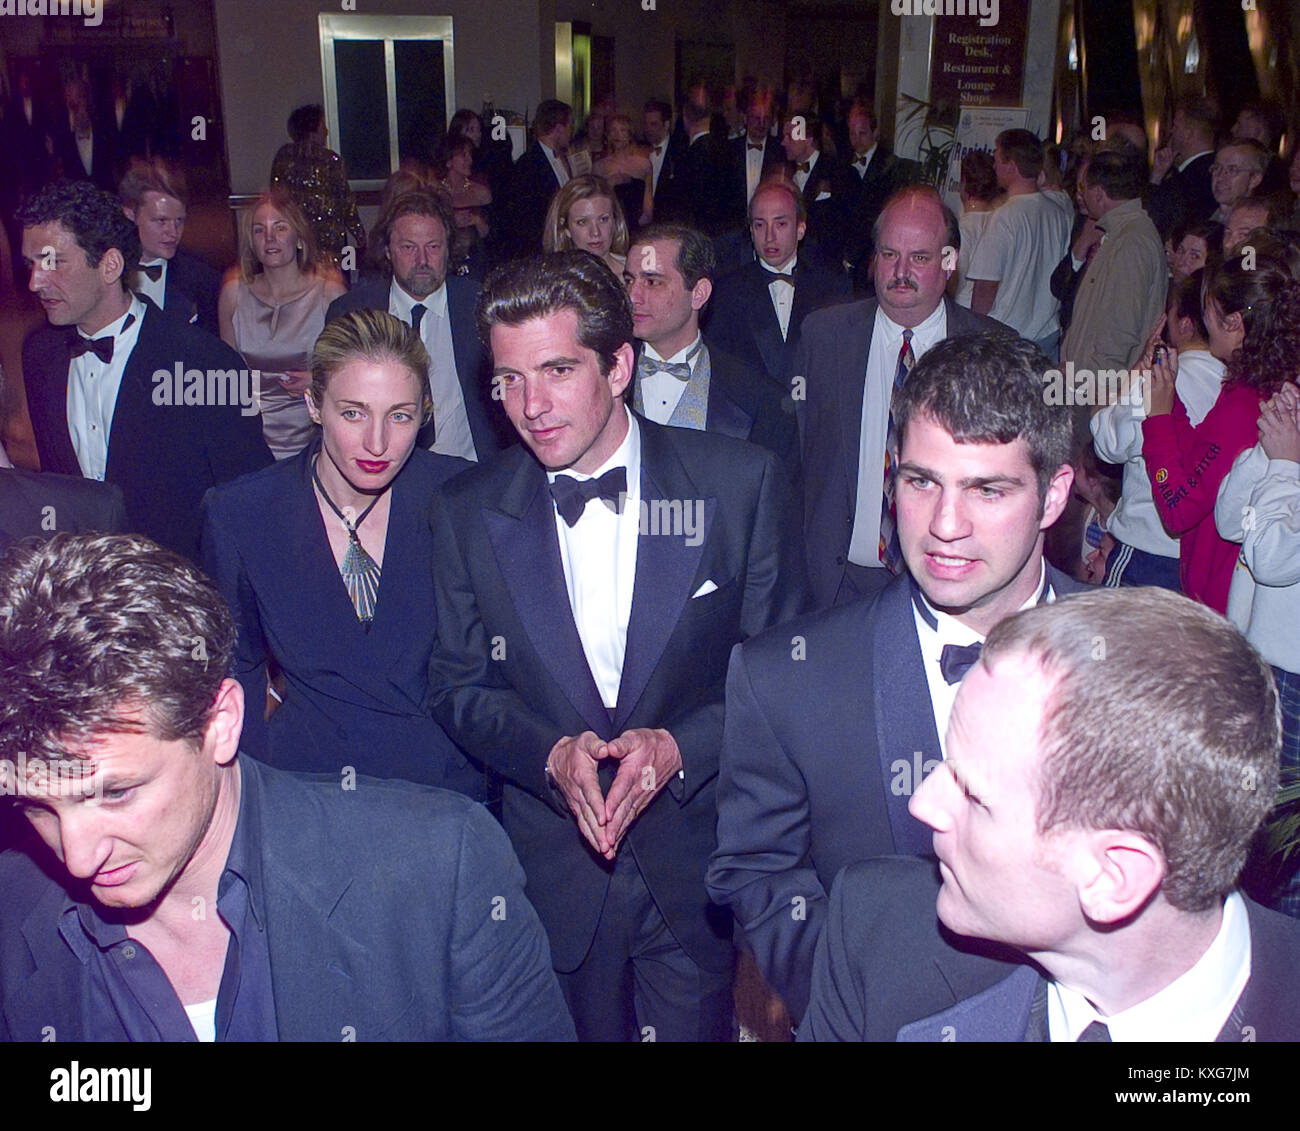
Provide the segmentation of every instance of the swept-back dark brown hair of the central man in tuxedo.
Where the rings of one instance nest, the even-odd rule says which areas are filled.
[[[599,358],[601,373],[632,342],[632,299],[614,272],[588,251],[554,251],[498,266],[478,296],[478,333],[520,326],[560,311],[577,315],[577,341]]]

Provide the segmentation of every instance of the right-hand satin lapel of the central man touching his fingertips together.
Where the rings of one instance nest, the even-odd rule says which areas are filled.
[[[651,525],[637,538],[637,576],[632,590],[632,615],[628,620],[628,642],[623,656],[623,680],[614,732],[620,733],[641,699],[650,677],[659,666],[668,638],[682,608],[694,592],[693,582],[708,542],[716,499],[701,498],[681,462],[664,445],[653,428],[641,428],[641,497],[653,515],[654,503],[680,502],[681,507],[703,504],[701,528],[689,545],[685,532],[662,530]],[[660,514],[660,521],[670,514]],[[564,607],[568,608],[566,601]]]

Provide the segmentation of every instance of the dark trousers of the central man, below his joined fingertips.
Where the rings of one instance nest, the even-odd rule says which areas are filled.
[[[592,949],[558,976],[581,1041],[733,1039],[733,971],[705,970],[677,945],[627,841]]]

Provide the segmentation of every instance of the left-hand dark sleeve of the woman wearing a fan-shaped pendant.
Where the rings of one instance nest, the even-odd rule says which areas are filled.
[[[248,584],[239,543],[218,516],[220,500],[208,490],[203,497],[203,534],[199,562],[221,590],[234,616],[238,640],[231,675],[244,693],[244,725],[239,749],[261,762],[270,760],[266,742],[266,637],[261,629],[257,597]]]

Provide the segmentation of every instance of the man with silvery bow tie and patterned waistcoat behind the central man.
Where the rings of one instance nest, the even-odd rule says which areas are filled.
[[[798,425],[784,390],[760,364],[746,364],[699,333],[712,294],[714,254],[705,235],[653,224],[628,248],[623,277],[637,341],[632,411],[655,424],[734,436],[766,447],[790,481]]]

